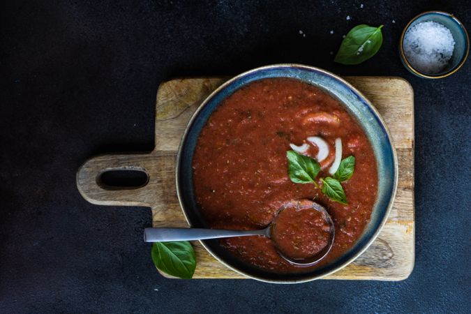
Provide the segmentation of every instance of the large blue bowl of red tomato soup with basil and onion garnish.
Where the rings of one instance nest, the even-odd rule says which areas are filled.
[[[261,229],[290,200],[327,209],[334,244],[313,266],[284,259],[265,237],[202,241],[232,269],[276,283],[320,278],[354,260],[396,192],[396,154],[379,114],[350,84],[307,66],[267,66],[223,84],[195,112],[177,161],[179,200],[193,227]],[[294,233],[283,243],[293,254],[304,237],[324,237],[308,220],[287,225]],[[325,241],[316,242],[320,250]]]

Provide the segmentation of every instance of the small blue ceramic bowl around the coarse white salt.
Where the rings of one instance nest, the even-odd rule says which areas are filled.
[[[417,68],[414,68],[409,63],[407,57],[405,57],[403,47],[404,36],[408,29],[413,27],[415,24],[428,21],[437,22],[447,27],[451,31],[451,35],[455,40],[453,55],[451,56],[447,68],[436,74],[424,73]],[[403,65],[410,71],[410,73],[417,75],[418,77],[438,79],[455,73],[459,68],[461,68],[461,66],[463,66],[470,52],[470,38],[463,24],[454,17],[454,15],[442,11],[428,11],[417,15],[405,26],[401,35],[401,40],[399,41],[399,52],[401,54]]]

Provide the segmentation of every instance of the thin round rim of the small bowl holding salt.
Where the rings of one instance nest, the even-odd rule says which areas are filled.
[[[403,44],[404,44],[405,33],[408,31],[410,25],[415,20],[417,20],[419,17],[422,17],[424,15],[428,15],[428,14],[441,14],[441,15],[445,15],[447,17],[450,17],[452,20],[454,20],[461,27],[461,29],[463,30],[463,33],[465,34],[465,38],[466,38],[466,46],[467,46],[466,47],[466,52],[463,55],[463,57],[461,58],[460,63],[458,63],[458,65],[455,66],[454,68],[451,68],[451,70],[449,70],[448,72],[442,73],[440,75],[428,75],[426,73],[420,72],[419,70],[416,70],[412,66],[412,64],[409,63],[408,58],[405,57],[405,53],[404,53]],[[429,78],[429,79],[439,79],[439,78],[447,77],[447,76],[449,76],[453,73],[456,73],[456,71],[459,70],[463,66],[466,59],[468,59],[468,54],[470,53],[470,37],[468,36],[468,31],[466,31],[465,26],[463,25],[463,23],[461,23],[461,21],[458,20],[458,18],[456,16],[452,15],[451,13],[447,13],[447,12],[444,12],[444,11],[426,11],[426,12],[423,12],[423,13],[420,13],[420,14],[414,16],[412,18],[412,20],[410,20],[408,22],[408,24],[405,25],[405,27],[403,29],[403,32],[401,33],[401,38],[399,39],[399,52],[401,53],[401,59],[403,60],[403,63],[405,63],[405,67],[408,70],[410,70],[412,73],[414,73],[418,77],[424,77],[424,78]]]

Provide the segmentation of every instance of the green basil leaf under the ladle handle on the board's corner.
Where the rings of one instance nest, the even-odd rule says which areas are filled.
[[[188,241],[154,243],[152,260],[158,269],[171,276],[189,279],[195,273],[195,251]]]

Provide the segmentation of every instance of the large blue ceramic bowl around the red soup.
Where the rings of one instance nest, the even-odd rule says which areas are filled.
[[[241,262],[220,246],[218,240],[205,240],[201,241],[201,243],[217,260],[230,267],[230,269],[250,278],[269,283],[302,283],[313,281],[345,267],[371,245],[386,223],[394,196],[396,195],[398,163],[391,135],[375,107],[345,80],[320,68],[299,64],[276,64],[255,68],[225,82],[203,101],[202,105],[193,114],[185,130],[177,154],[177,195],[190,226],[209,227],[204,218],[202,218],[195,200],[195,190],[193,188],[192,162],[197,139],[211,114],[225,98],[251,82],[269,77],[291,77],[320,87],[331,94],[331,96],[340,100],[345,109],[364,128],[373,146],[379,179],[377,199],[371,214],[371,220],[350,251],[347,251],[334,262],[299,274],[277,274]]]

